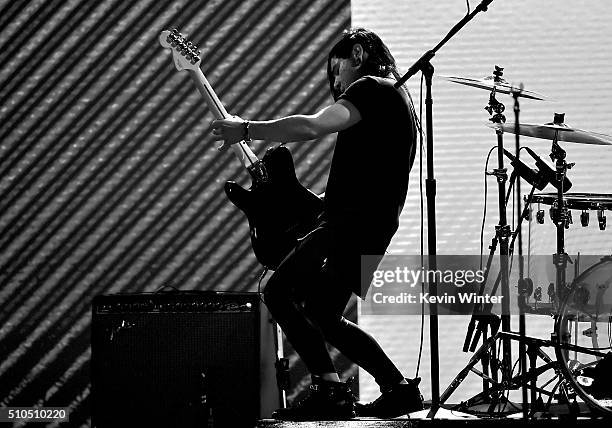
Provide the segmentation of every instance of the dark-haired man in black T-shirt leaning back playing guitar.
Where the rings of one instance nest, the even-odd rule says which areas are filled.
[[[406,379],[376,340],[342,314],[352,293],[364,298],[399,225],[416,151],[417,120],[395,60],[371,31],[346,32],[329,53],[335,103],[312,115],[267,121],[215,120],[225,150],[240,141],[304,142],[338,133],[318,226],[270,277],[264,300],[312,377],[310,395],[279,409],[281,419],[396,417],[423,407],[418,380]],[[361,255],[377,255],[361,265]],[[368,371],[382,395],[355,405],[325,342]]]

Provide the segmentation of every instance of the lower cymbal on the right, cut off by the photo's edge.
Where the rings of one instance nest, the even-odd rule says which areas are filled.
[[[514,134],[514,123],[489,123],[490,128],[501,129],[504,132]],[[612,145],[612,136],[599,134],[597,132],[583,131],[571,128],[565,123],[545,123],[543,125],[532,125],[527,123],[519,124],[519,134],[526,137],[542,138],[553,140],[557,134],[558,141],[579,144],[595,144],[600,146]]]

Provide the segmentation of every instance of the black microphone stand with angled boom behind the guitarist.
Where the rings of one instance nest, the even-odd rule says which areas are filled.
[[[433,164],[433,99],[431,95],[432,78],[434,67],[431,59],[436,52],[446,44],[455,34],[459,32],[468,22],[470,22],[479,12],[486,12],[493,0],[483,0],[472,13],[468,13],[459,21],[433,49],[428,50],[419,58],[396,83],[399,88],[408,79],[421,71],[425,77],[426,98],[425,98],[425,117],[426,117],[426,137],[427,137],[427,179],[425,181],[425,193],[427,196],[427,249],[429,253],[429,269],[437,270],[436,261],[436,180],[434,177]],[[434,275],[435,277],[435,275]],[[429,341],[431,347],[431,409],[427,414],[428,418],[433,419],[440,407],[440,351],[438,345],[438,308],[435,298],[438,295],[438,283],[434,280],[429,284],[429,294],[433,297],[429,303]]]

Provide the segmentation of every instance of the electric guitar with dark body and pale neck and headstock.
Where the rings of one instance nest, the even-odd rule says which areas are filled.
[[[172,51],[176,69],[189,72],[214,116],[217,119],[230,117],[200,69],[202,60],[197,47],[176,29],[162,31],[159,42]],[[251,187],[245,189],[228,181],[225,193],[248,219],[257,260],[269,269],[276,269],[297,240],[316,225],[323,211],[323,201],[300,184],[293,157],[285,146],[268,149],[261,160],[244,141],[231,148],[249,172]]]

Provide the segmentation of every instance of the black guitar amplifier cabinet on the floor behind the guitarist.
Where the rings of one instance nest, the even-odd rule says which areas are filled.
[[[257,293],[96,296],[91,352],[94,427],[252,428],[279,404]]]

